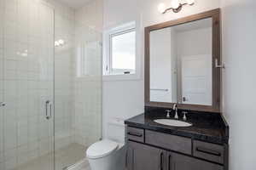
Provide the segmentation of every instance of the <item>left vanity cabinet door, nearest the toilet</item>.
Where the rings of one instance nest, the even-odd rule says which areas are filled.
[[[128,170],[166,170],[166,151],[128,141]]]

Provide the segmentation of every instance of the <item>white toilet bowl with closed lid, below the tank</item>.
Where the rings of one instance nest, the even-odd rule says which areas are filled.
[[[125,144],[104,139],[90,145],[86,157],[91,170],[124,170]]]

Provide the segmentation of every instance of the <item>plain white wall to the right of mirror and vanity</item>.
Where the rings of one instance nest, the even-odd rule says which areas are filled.
[[[230,169],[256,169],[256,2],[222,3],[224,115],[230,123]]]

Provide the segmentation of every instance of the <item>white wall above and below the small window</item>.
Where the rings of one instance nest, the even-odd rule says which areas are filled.
[[[104,30],[130,21],[140,20],[140,2],[137,0],[105,0]],[[120,138],[125,135],[124,127],[109,125],[113,118],[126,119],[143,112],[143,80],[103,82],[103,133],[104,136]],[[113,128],[112,128],[113,127]],[[115,131],[113,131],[115,130]],[[114,136],[118,133],[118,136]]]

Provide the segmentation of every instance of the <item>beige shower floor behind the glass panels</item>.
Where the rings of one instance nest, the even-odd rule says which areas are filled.
[[[82,166],[73,166],[65,168],[65,170],[90,170],[89,162],[84,158],[85,150],[86,147],[81,144],[69,144],[67,147],[57,150],[55,152],[55,170],[62,170],[83,160]],[[41,156],[14,170],[47,170],[49,159],[51,159],[50,155]]]

